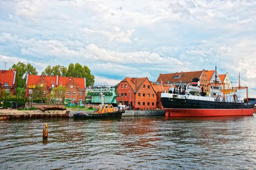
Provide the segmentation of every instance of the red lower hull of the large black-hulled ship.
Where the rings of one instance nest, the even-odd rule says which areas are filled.
[[[177,109],[164,108],[166,117],[178,116],[243,116],[253,115],[254,109]]]

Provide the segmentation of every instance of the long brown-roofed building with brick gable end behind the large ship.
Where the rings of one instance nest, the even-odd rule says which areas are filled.
[[[200,80],[200,88],[202,92],[207,92],[209,80],[207,79],[206,71],[190,71],[190,72],[176,72],[176,73],[167,73],[159,74],[157,78],[157,84],[161,83],[161,80],[164,84],[171,86],[171,84],[177,84],[184,88],[186,84],[192,84],[193,78],[198,78]]]

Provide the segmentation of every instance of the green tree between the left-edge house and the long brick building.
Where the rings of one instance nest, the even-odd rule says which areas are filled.
[[[16,68],[16,76],[17,76],[17,87],[24,88],[26,86],[26,78],[28,74],[37,75],[36,68],[31,64],[24,64],[22,62],[18,62],[18,64],[13,64],[9,70],[13,70]]]

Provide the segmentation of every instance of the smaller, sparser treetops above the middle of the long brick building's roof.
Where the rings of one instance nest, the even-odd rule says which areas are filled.
[[[54,75],[58,75],[61,77],[66,77],[67,74],[67,68],[65,66],[60,66],[60,65],[56,65],[56,66],[47,66],[45,68],[45,71],[42,72],[43,75],[47,75],[47,76],[54,76]]]

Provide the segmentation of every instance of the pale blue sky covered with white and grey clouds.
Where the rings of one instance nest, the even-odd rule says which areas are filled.
[[[254,0],[0,0],[0,69],[79,63],[95,85],[214,70],[256,97]]]

